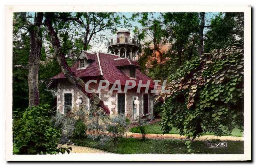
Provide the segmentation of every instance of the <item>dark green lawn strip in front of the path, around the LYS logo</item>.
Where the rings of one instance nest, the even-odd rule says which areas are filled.
[[[121,138],[117,146],[112,142],[100,146],[98,142],[90,139],[71,139],[76,145],[97,148],[117,154],[187,154],[186,140],[174,139],[146,139]],[[225,141],[227,148],[208,148],[209,141],[191,141],[193,153],[196,154],[243,154],[244,141]],[[212,140],[211,142],[223,142]]]

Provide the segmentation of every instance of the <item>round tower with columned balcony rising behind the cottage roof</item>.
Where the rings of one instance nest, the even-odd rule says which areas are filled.
[[[130,31],[127,29],[121,29],[116,34],[116,41],[113,39],[108,41],[108,50],[111,54],[135,61],[135,56],[139,51],[139,43],[134,38],[130,39]]]

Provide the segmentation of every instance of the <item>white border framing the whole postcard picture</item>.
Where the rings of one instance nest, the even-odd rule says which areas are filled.
[[[12,12],[244,12],[244,154],[232,155],[13,155]],[[5,160],[6,161],[217,161],[251,160],[251,6],[250,5],[16,5],[5,7]]]

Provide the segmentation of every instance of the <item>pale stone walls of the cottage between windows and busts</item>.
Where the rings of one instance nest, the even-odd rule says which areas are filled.
[[[90,84],[91,85],[91,84]],[[97,89],[98,85],[91,85],[92,88]],[[100,91],[100,99],[104,101],[104,104],[109,108],[110,114],[118,114],[117,109],[117,91],[109,92],[111,86]],[[76,105],[76,100],[79,96],[82,96],[82,103],[86,105],[86,109],[89,110],[89,99],[82,93],[78,88],[71,85],[67,80],[61,80],[57,83],[57,110],[64,113],[64,94],[72,93],[72,108],[78,108]],[[139,97],[139,114],[143,113],[143,92],[136,93],[136,89],[128,90],[125,94],[125,115],[129,118],[133,118],[133,101],[134,97]],[[153,100],[152,95],[149,94],[149,113],[153,116]]]

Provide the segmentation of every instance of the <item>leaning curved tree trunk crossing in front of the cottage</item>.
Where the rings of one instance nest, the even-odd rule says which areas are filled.
[[[58,39],[57,33],[54,31],[52,27],[53,18],[54,18],[53,13],[45,13],[45,26],[48,31],[49,37],[51,39],[52,47],[55,53],[55,58],[57,59],[58,64],[60,65],[61,71],[63,72],[65,77],[68,79],[68,81],[72,83],[74,86],[76,86],[79,90],[81,90],[92,101],[94,105],[96,105],[97,107],[101,107],[106,114],[110,114],[110,111],[108,107],[104,105],[104,102],[100,100],[100,98],[95,93],[88,93],[85,90],[84,81],[79,77],[76,77],[75,73],[73,73],[68,67],[65,55],[62,54],[61,52],[60,41]]]

